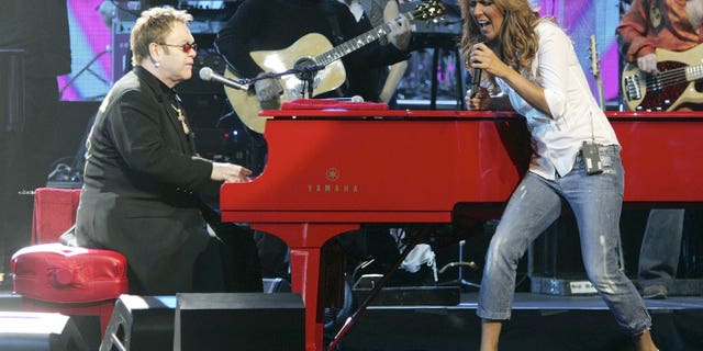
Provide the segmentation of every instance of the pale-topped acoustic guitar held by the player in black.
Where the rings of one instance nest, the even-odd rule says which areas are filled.
[[[409,20],[428,20],[443,14],[444,4],[439,0],[428,0],[420,3],[415,10],[403,13]],[[232,109],[239,116],[239,120],[250,129],[264,133],[266,118],[258,115],[261,110],[278,110],[284,101],[300,99],[305,92],[308,77],[301,73],[310,73],[306,67],[324,67],[321,70],[312,71],[312,97],[339,88],[346,80],[344,65],[339,60],[342,57],[370,44],[391,32],[393,21],[381,24],[361,35],[346,41],[333,47],[330,41],[322,34],[310,33],[287,48],[280,50],[252,52],[252,59],[265,71],[271,75],[291,72],[278,77],[283,93],[279,100],[263,105],[256,98],[254,84],[247,91],[225,87],[225,94],[232,104]],[[234,81],[242,81],[239,77],[227,68],[224,76]]]

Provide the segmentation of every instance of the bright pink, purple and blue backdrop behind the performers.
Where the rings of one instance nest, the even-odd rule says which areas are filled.
[[[111,31],[98,11],[101,3],[102,0],[68,0],[74,64],[72,73],[59,78],[63,100],[101,100],[112,83]],[[589,37],[595,35],[607,100],[617,98],[620,86],[615,41],[618,3],[614,0],[537,1],[543,15],[556,18],[567,30],[587,73],[591,65]],[[593,79],[589,79],[595,94]]]

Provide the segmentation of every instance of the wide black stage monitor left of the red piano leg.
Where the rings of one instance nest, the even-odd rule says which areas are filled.
[[[299,294],[178,294],[174,350],[305,349]]]

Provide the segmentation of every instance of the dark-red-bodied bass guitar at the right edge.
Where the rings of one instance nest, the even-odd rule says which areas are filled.
[[[703,103],[695,82],[703,78],[703,44],[685,52],[657,49],[656,75],[641,72],[627,64],[622,75],[622,90],[631,111],[672,111],[682,104]]]

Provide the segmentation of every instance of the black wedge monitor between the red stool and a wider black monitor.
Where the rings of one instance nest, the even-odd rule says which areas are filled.
[[[174,350],[175,309],[176,296],[120,296],[100,351]]]

